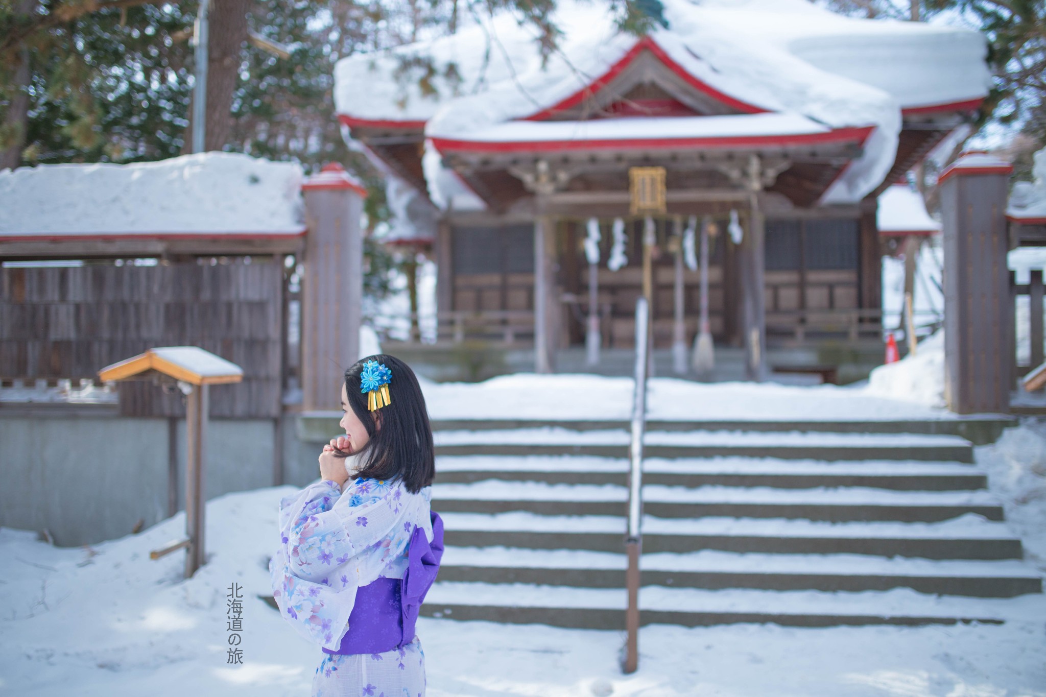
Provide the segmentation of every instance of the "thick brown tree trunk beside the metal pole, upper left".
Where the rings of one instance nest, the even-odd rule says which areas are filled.
[[[232,130],[232,93],[236,89],[247,41],[248,0],[210,0],[207,11],[207,123],[204,150],[221,150]],[[182,154],[192,152],[192,103]]]

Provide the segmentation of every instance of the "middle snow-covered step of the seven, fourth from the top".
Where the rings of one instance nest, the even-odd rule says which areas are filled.
[[[442,511],[543,514],[622,514],[628,490],[613,484],[548,484],[485,480],[472,484],[435,484],[433,505]],[[980,491],[890,491],[870,487],[773,487],[645,485],[643,509],[661,517],[730,515],[814,520],[933,521],[977,513],[1001,520],[994,494]]]

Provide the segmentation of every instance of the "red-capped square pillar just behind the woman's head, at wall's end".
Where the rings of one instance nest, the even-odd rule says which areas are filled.
[[[304,411],[340,408],[345,369],[360,358],[363,321],[363,201],[367,190],[338,163],[301,185],[305,273],[301,287]]]

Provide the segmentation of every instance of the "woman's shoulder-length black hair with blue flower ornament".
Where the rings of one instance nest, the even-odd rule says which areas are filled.
[[[389,403],[376,412],[367,409],[367,394],[360,392],[360,373],[363,372],[363,364],[368,361],[384,364],[392,371],[388,384]],[[411,493],[417,493],[422,487],[432,484],[436,473],[432,426],[422,386],[417,384],[410,366],[386,353],[360,358],[345,371],[345,394],[370,438],[360,450],[366,454],[366,465],[353,479],[370,477],[391,480],[401,477]],[[381,428],[374,421],[376,414],[381,419]]]

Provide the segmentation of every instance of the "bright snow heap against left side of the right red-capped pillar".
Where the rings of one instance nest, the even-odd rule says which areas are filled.
[[[869,395],[945,406],[945,330],[919,342],[915,355],[871,371],[864,392]]]

